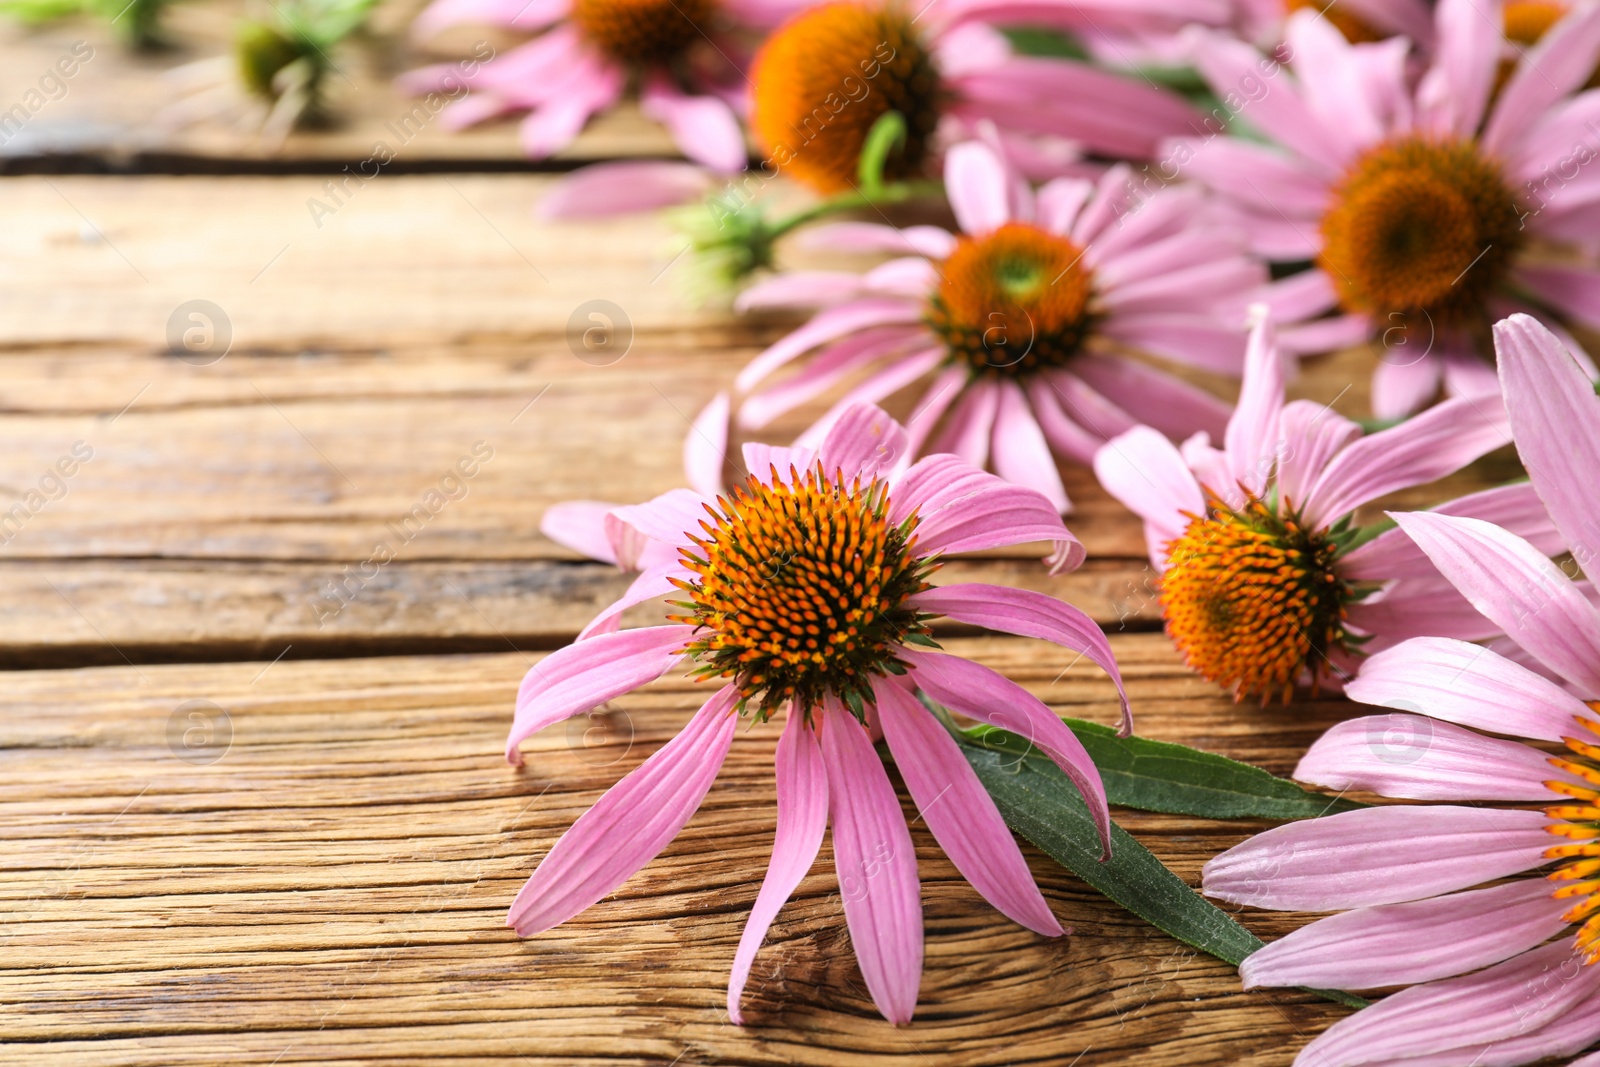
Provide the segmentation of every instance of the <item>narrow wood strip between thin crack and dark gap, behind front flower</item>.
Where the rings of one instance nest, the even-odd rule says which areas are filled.
[[[371,577],[339,563],[0,561],[0,667],[549,649],[629,581],[562,560],[398,561]],[[1037,589],[1112,630],[1160,622],[1133,561],[1051,577],[1026,560],[952,560],[934,581]],[[624,624],[661,614],[640,605]]]

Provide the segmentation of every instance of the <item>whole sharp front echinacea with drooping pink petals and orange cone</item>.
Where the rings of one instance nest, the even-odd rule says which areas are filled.
[[[622,598],[677,595],[666,625],[603,632],[552,653],[522,683],[506,757],[533,733],[616,699],[680,662],[712,696],[685,729],[618,782],[550,848],[507,923],[557,926],[611,893],[690,821],[741,718],[784,718],[778,742],[773,862],[734,955],[728,1014],[766,928],[834,827],[845,921],[867,990],[891,1022],[910,1019],[922,974],[917,859],[899,801],[872,750],[882,729],[922,817],[1000,912],[1061,934],[1021,849],[955,741],[917,699],[1029,737],[1074,781],[1109,845],[1099,773],[1072,731],[1014,681],[938,651],[928,621],[1056,641],[1117,680],[1088,616],[1051,597],[997,585],[933,587],[939,558],[1034,541],[1075,566],[1083,547],[1037,493],[955,456],[906,466],[906,432],[870,406],[842,418],[818,450],[747,445],[752,472],[707,499],[674,490],[606,517],[610,552],[645,563]],[[1126,699],[1123,699],[1126,712]]]

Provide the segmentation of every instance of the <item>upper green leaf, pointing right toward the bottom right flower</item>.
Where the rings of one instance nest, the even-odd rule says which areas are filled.
[[[1149,737],[1118,737],[1110,726],[1062,720],[1078,736],[1106,782],[1114,805],[1203,819],[1315,819],[1365,808],[1301,789],[1259,766],[1213,752]],[[1008,758],[1038,757],[1026,737],[994,726],[965,731],[965,739]]]

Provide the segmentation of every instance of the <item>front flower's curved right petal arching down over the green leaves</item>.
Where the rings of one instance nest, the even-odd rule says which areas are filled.
[[[998,726],[1038,747],[1072,781],[1099,827],[1104,854],[1110,857],[1110,808],[1099,768],[1064,721],[1045,704],[982,664],[942,653],[901,653],[912,669],[912,681],[939,704],[958,715]]]

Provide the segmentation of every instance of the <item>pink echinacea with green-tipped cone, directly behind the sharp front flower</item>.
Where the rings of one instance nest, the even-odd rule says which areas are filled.
[[[992,147],[965,142],[946,163],[965,234],[867,222],[814,230],[818,245],[909,254],[859,275],[778,275],[741,294],[747,309],[824,310],[739,374],[738,387],[752,390],[806,357],[746,397],[739,422],[762,427],[870,370],[800,438],[813,443],[848,405],[925,382],[909,421],[914,453],[992,462],[1061,510],[1069,501],[1051,450],[1088,464],[1141,422],[1174,435],[1221,430],[1226,405],[1122,352],[1237,376],[1243,331],[1218,312],[1242,307],[1264,270],[1210,221],[1200,190],[1166,190],[1134,210],[1126,176],[1056,179],[1035,195]]]

